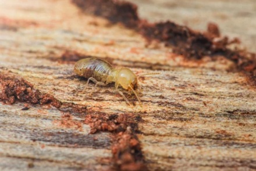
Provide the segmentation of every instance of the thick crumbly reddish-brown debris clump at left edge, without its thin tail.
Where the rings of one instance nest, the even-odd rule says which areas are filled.
[[[42,94],[33,87],[33,84],[15,76],[0,73],[0,86],[0,101],[3,101],[5,104],[13,104],[16,101],[20,101],[29,104],[51,104],[56,108],[61,106],[61,102],[54,98],[54,96]]]

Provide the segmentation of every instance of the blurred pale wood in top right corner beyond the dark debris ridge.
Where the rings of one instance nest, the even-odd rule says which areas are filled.
[[[244,48],[256,52],[254,0],[131,0],[130,2],[136,3],[140,16],[151,22],[172,20],[200,31],[207,30],[209,22],[216,23],[222,35],[228,35],[230,38],[239,37]]]

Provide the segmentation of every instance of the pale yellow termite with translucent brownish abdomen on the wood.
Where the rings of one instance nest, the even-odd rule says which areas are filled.
[[[88,86],[89,81],[95,83],[90,95],[93,94],[97,85],[107,85],[115,82],[115,90],[122,95],[123,99],[130,104],[122,91],[118,89],[119,86],[128,91],[133,91],[136,98],[140,102],[137,94],[138,79],[137,76],[127,67],[116,68],[105,60],[98,58],[86,58],[77,61],[74,65],[74,73],[79,76],[86,77]],[[141,102],[140,102],[141,103]]]

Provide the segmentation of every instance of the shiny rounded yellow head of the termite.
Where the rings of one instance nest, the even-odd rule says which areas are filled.
[[[126,67],[118,70],[116,82],[126,90],[137,90],[138,87],[138,79],[136,75]]]

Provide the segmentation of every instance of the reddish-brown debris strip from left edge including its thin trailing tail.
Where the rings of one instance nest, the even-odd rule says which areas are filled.
[[[16,101],[26,102],[22,110],[28,110],[29,104],[50,104],[67,113],[86,115],[87,107],[74,103],[62,103],[51,94],[42,94],[28,81],[11,74],[0,73],[0,101],[14,104]]]

